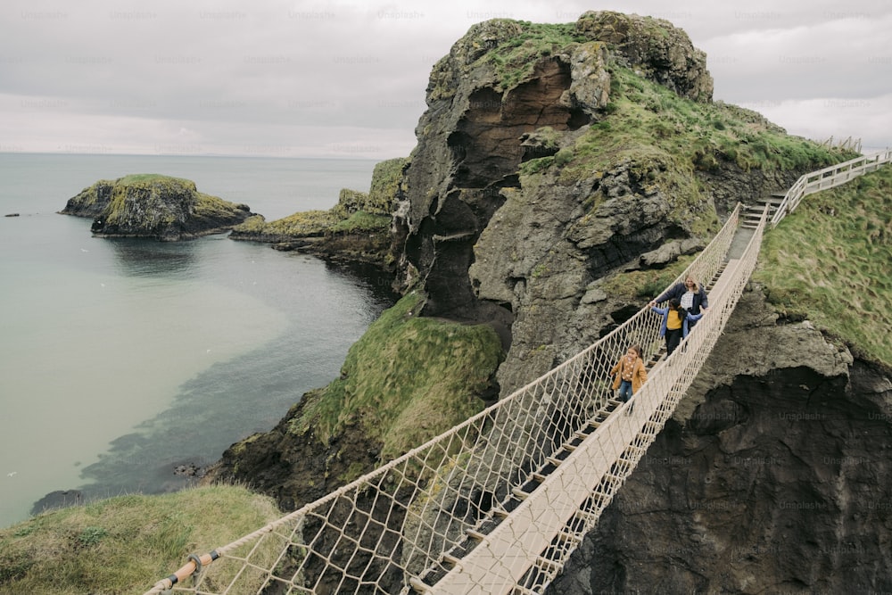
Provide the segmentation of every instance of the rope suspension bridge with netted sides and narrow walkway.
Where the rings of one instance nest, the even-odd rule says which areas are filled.
[[[706,359],[765,225],[726,263],[738,209],[683,277],[718,277],[710,309],[629,403],[611,368],[663,340],[649,308],[475,417],[209,554],[146,595],[541,592],[597,523]],[[719,273],[721,272],[721,275]]]

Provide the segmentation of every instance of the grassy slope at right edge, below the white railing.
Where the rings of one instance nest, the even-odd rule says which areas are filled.
[[[786,318],[807,318],[892,368],[892,166],[805,196],[764,236],[753,275]]]

